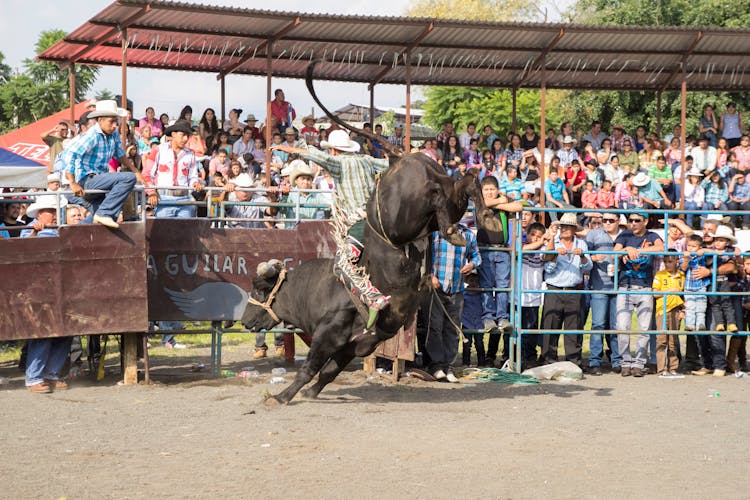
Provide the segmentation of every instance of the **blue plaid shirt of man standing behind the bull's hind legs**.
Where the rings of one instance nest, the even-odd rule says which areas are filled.
[[[448,295],[463,292],[464,277],[461,268],[465,264],[471,262],[476,269],[482,262],[474,233],[463,224],[458,225],[458,231],[466,238],[465,247],[451,245],[440,236],[439,231],[431,236],[432,274],[440,282],[440,289]]]

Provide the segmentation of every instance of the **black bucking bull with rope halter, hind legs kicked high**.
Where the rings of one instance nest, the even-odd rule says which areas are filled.
[[[307,70],[307,87],[328,117],[342,127],[388,151],[390,167],[367,203],[364,250],[360,265],[370,273],[378,289],[390,295],[390,305],[378,316],[375,328],[365,329],[366,310],[353,299],[333,273],[333,259],[315,259],[286,273],[278,261],[261,263],[253,280],[242,323],[250,330],[270,329],[279,320],[293,324],[312,336],[310,352],[294,381],[269,401],[288,403],[318,374],[303,395],[316,397],[355,356],[371,354],[414,320],[422,295],[429,292],[429,276],[421,273],[427,236],[440,231],[457,245],[466,244],[455,224],[474,201],[479,224],[500,230],[487,209],[475,175],[455,181],[428,156],[402,154],[379,136],[351,127],[330,113],[320,102],[312,84],[315,62]]]

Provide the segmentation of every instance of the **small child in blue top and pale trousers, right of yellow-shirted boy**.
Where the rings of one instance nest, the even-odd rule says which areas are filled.
[[[709,277],[697,278],[694,274],[696,269],[706,267],[702,247],[703,237],[700,234],[691,234],[688,237],[685,253],[680,260],[680,269],[685,273],[686,292],[705,293],[711,284]],[[685,331],[706,329],[706,306],[705,295],[685,295]]]

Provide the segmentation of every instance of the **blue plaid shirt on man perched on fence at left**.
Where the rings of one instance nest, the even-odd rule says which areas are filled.
[[[74,138],[60,153],[64,171],[73,174],[76,182],[89,174],[109,172],[109,160],[125,156],[122,141],[117,133],[107,135],[97,123]]]

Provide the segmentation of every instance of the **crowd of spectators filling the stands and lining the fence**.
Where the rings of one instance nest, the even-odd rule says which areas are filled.
[[[336,126],[318,128],[313,116],[295,122],[296,112],[281,89],[275,92],[271,111],[269,123],[261,126],[253,114],[246,114],[243,121],[239,108],[230,110],[223,123],[211,108],[195,120],[190,106],[175,121],[166,114],[157,117],[152,107],[136,120],[130,110],[100,101],[80,117],[77,132],[61,122],[43,134],[51,152],[47,190],[67,186],[72,191],[61,198],[61,205],[67,204],[62,213],[75,214],[73,222],[67,216],[63,219],[68,223],[117,227],[138,218],[141,209],[153,217],[216,217],[220,212],[214,207],[220,205],[226,223],[233,227],[290,228],[300,219],[324,218],[337,187],[335,175],[309,159],[314,153],[289,151],[325,149]],[[126,120],[118,126],[120,117]],[[364,128],[404,146],[400,123],[388,136],[380,124],[373,128],[366,123]],[[265,144],[267,132],[271,144]],[[645,127],[626,130],[615,124],[605,130],[594,121],[588,131],[574,131],[565,122],[559,134],[550,129],[541,138],[533,124],[523,134],[499,135],[492,126],[478,128],[476,123],[459,133],[446,122],[435,139],[412,151],[430,156],[455,179],[473,169],[485,203],[497,212],[503,230],[477,230],[470,227],[470,219],[464,221],[462,231],[474,235],[467,239],[475,248],[462,252],[448,268],[433,269],[435,288],[446,297],[460,294],[462,299],[444,298],[443,310],[451,321],[428,315],[426,331],[432,332],[432,322],[439,322],[437,330],[443,331],[454,323],[463,324],[467,332],[463,364],[501,365],[510,356],[512,331],[510,250],[521,238],[520,326],[545,332],[523,336],[524,366],[558,360],[559,339],[552,332],[588,328],[592,333],[586,366],[583,335],[564,335],[563,343],[565,359],[593,375],[607,365],[634,377],[649,370],[664,376],[676,375],[680,369],[717,376],[745,370],[745,337],[688,336],[681,349],[674,335],[645,333],[665,330],[664,325],[669,331],[728,333],[747,331],[749,326],[746,297],[750,294],[737,292],[750,292],[750,257],[741,255],[736,231],[750,229],[750,137],[734,103],[720,116],[705,106],[698,129],[689,132],[683,144],[679,126],[659,137]],[[119,137],[112,139],[119,135],[122,142]],[[384,157],[378,141],[355,133],[349,137],[359,145],[358,154]],[[92,158],[103,170],[92,170]],[[112,175],[107,177],[109,184],[95,185],[92,179],[104,178],[97,174],[105,172]],[[136,182],[146,187],[148,203],[143,207],[131,193]],[[111,191],[92,202],[82,197],[84,188]],[[207,196],[219,205],[207,204]],[[50,214],[56,213],[57,205],[48,206],[47,198],[51,197],[42,193],[6,198],[0,236],[54,236],[49,226],[56,227],[57,221]],[[523,211],[507,209],[514,202]],[[685,213],[665,218],[659,211],[681,207],[702,216]],[[570,212],[575,208],[582,210]],[[521,234],[515,234],[514,217],[520,217]],[[432,244],[436,255],[448,252],[447,242],[434,239]],[[463,282],[457,285],[456,276],[469,287]],[[583,290],[589,293],[580,293]],[[665,299],[644,293],[651,291],[669,295]],[[629,334],[594,333],[631,330],[633,318],[639,332],[633,346]],[[162,330],[174,327],[162,325]],[[165,345],[177,345],[169,335],[165,338]],[[426,342],[423,337],[420,351],[427,366],[434,368],[437,378],[453,381],[456,353],[446,355]],[[278,354],[280,339],[276,345]],[[265,336],[259,337],[256,347],[256,356],[265,356]],[[59,354],[46,349],[34,350],[35,363],[47,356],[52,364],[59,364]],[[64,388],[55,382],[59,377],[54,370],[47,378],[40,375],[42,368],[34,366],[33,376],[27,377],[30,387]],[[50,386],[40,380],[55,383]]]

